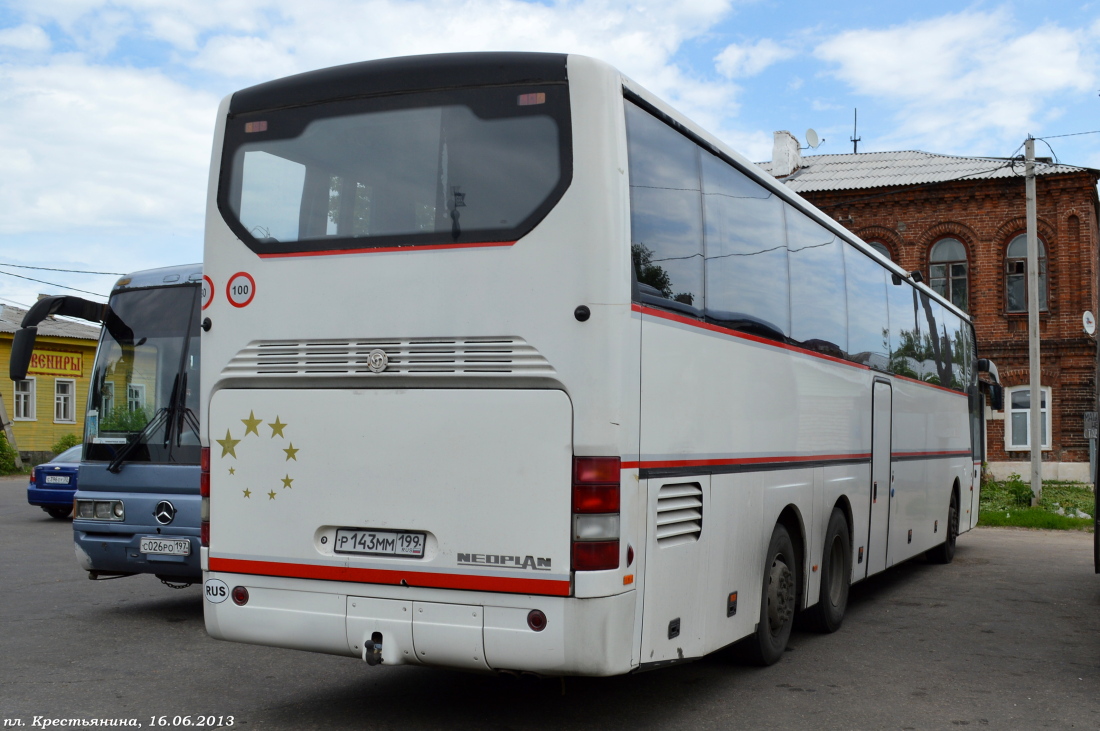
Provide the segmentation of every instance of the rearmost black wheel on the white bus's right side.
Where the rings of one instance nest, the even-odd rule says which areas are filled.
[[[763,564],[760,621],[745,647],[749,660],[757,665],[772,665],[783,656],[794,625],[798,594],[799,557],[787,529],[776,525]]]

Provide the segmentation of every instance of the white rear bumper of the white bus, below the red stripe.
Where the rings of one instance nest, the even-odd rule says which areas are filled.
[[[243,606],[205,592],[207,632],[219,640],[482,672],[618,675],[636,664],[635,591],[576,599],[301,579],[292,589],[275,577],[205,577],[223,582],[230,595],[238,586],[249,591]],[[541,631],[528,623],[532,610],[546,616]]]

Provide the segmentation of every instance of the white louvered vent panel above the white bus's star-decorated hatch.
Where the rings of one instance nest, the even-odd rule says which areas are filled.
[[[386,352],[380,374],[367,367],[371,351]],[[227,364],[226,376],[550,376],[554,370],[521,337],[415,340],[253,341]]]

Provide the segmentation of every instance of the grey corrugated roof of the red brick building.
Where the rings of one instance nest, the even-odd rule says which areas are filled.
[[[758,163],[769,175],[771,162]],[[1036,175],[1098,171],[1087,167],[1035,162]],[[1023,178],[1021,159],[1003,157],[956,157],[911,149],[850,155],[811,155],[791,175],[780,178],[796,192],[815,190],[859,190],[916,186],[953,180]]]

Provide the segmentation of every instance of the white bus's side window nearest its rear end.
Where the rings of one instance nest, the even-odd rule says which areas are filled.
[[[639,291],[697,313],[703,308],[703,221],[698,151],[626,102],[630,252]],[[690,309],[689,309],[690,308]]]

